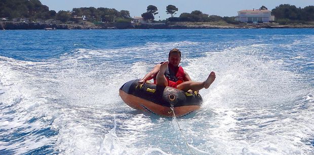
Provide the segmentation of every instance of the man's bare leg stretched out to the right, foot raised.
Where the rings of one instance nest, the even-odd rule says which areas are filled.
[[[179,84],[177,88],[183,91],[187,91],[189,89],[192,89],[194,91],[198,91],[203,88],[207,89],[214,82],[215,78],[215,73],[211,72],[204,82],[186,81]]]

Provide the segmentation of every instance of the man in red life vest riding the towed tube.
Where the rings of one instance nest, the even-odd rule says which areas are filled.
[[[168,62],[156,65],[139,81],[139,84],[154,79],[154,83],[158,86],[170,86],[183,91],[188,91],[189,89],[199,91],[203,88],[207,89],[214,82],[216,78],[214,72],[211,72],[203,82],[192,81],[183,68],[179,66],[180,62],[181,51],[173,48],[169,52]]]

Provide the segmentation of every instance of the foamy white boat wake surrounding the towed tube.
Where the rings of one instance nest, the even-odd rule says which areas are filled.
[[[172,119],[130,109],[118,95],[174,46],[193,80],[216,72],[200,91],[201,110],[178,119],[193,151],[311,153],[311,70],[287,69],[291,62],[269,53],[269,44],[239,42],[76,48],[40,62],[0,57],[0,153],[188,152]]]

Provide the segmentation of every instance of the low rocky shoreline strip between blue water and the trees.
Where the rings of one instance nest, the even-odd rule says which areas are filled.
[[[22,22],[0,22],[0,30],[32,30],[32,29],[242,29],[242,28],[314,28],[314,25],[276,25],[276,24],[228,24],[228,23],[102,23],[101,25],[80,24],[43,24]]]

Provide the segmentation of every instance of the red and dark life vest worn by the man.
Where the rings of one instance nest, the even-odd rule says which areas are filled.
[[[169,87],[177,88],[177,85],[184,82],[184,70],[181,66],[172,67],[171,64],[169,64],[165,71],[165,77]],[[156,84],[156,77],[154,77],[154,84]]]

